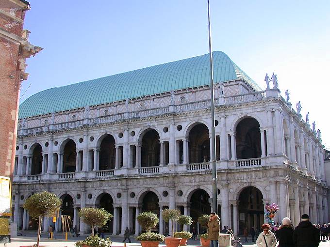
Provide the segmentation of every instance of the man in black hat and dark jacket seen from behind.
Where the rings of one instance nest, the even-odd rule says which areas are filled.
[[[317,247],[319,245],[319,232],[316,227],[312,226],[308,215],[301,216],[301,221],[293,232],[293,242],[296,247]]]

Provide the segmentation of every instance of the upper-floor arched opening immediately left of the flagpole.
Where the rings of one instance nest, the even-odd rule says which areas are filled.
[[[196,124],[189,131],[189,163],[210,161],[209,129],[205,124]]]

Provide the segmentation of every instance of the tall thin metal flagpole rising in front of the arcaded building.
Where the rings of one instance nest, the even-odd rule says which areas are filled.
[[[218,181],[216,176],[215,163],[215,127],[214,127],[214,83],[213,83],[213,62],[212,62],[212,46],[211,46],[211,24],[210,24],[210,3],[207,0],[207,14],[209,24],[209,52],[210,52],[210,90],[211,90],[211,149],[212,149],[212,208],[213,212],[218,213]]]

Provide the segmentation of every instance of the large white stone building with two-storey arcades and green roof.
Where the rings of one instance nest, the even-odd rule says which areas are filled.
[[[105,230],[113,234],[123,234],[126,227],[135,234],[141,232],[135,218],[144,211],[160,217],[155,231],[171,232],[162,219],[164,208],[178,208],[192,216],[193,226],[199,229],[197,217],[213,210],[210,89],[207,77],[194,77],[194,73],[203,75],[203,70],[206,75],[207,56],[184,60],[184,68],[180,65],[184,62],[178,61],[50,89],[22,104],[13,185],[18,226],[35,228],[22,204],[33,193],[48,190],[64,201],[61,214],[70,215],[80,232],[89,231],[77,214],[82,207],[111,212],[114,217]],[[314,223],[328,222],[329,187],[320,137],[278,88],[262,90],[224,53],[214,52],[214,64],[222,226],[229,225],[235,234],[245,227],[259,228],[267,202],[280,206],[275,221],[289,216],[297,225],[307,213]],[[148,90],[147,76],[140,77],[143,73],[162,78],[156,85],[159,92],[127,98],[118,94],[131,81],[135,84],[130,92],[137,92],[137,87]],[[190,79],[184,79],[185,73]],[[111,84],[112,78],[120,81],[119,88]],[[192,83],[196,78],[197,83]],[[104,81],[110,83],[109,91],[103,88]],[[182,86],[182,81],[190,84]],[[170,90],[164,90],[169,84]],[[123,99],[87,105],[79,101],[87,98],[82,96],[85,85],[89,92],[101,88]],[[64,98],[56,102],[49,98],[62,97],[66,91],[76,94],[66,102],[69,106],[61,105]],[[98,97],[101,91],[91,94]],[[49,224],[53,223],[45,218],[45,230]],[[60,229],[61,223],[56,223],[56,230]]]

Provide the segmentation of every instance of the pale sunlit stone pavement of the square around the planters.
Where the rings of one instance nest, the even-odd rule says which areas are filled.
[[[23,236],[16,236],[12,237],[12,243],[6,244],[6,247],[20,247],[20,246],[31,246],[36,243],[36,233],[35,232],[24,232],[26,234],[25,237]],[[87,236],[87,235],[86,235]],[[78,238],[75,237],[68,237],[68,240],[65,241],[64,237],[62,237],[62,234],[57,233],[57,238],[56,240],[49,240],[47,239],[46,234],[42,234],[41,240],[40,240],[40,247],[41,246],[48,246],[48,247],[75,247],[75,243],[78,240],[84,239],[86,236],[80,236]],[[106,235],[107,237],[107,235]],[[123,247],[124,244],[122,243],[123,237],[122,236],[109,236],[110,239],[113,241],[112,246],[113,247]],[[241,239],[244,239],[241,238]],[[139,247],[141,246],[139,241],[135,240],[134,236],[131,236],[132,243],[126,243],[126,247]],[[199,240],[188,240],[188,246],[187,247],[198,247],[200,246]],[[256,247],[256,244],[252,244],[251,242],[249,243],[244,243],[243,241],[243,246],[244,247]],[[0,244],[2,246],[2,244]],[[329,247],[330,246],[330,241],[325,241],[321,242],[319,247]],[[161,243],[160,247],[165,247],[165,243]]]

